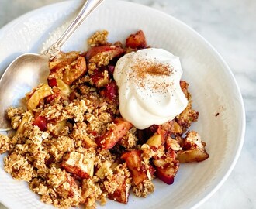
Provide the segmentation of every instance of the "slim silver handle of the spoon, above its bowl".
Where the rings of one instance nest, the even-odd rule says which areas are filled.
[[[69,39],[74,33],[74,31],[78,29],[78,26],[81,25],[81,22],[83,22],[88,17],[88,15],[90,15],[92,11],[96,9],[96,7],[98,7],[103,1],[104,0],[86,0],[76,18],[73,20],[73,22],[71,22],[71,25],[68,26],[62,36],[42,54],[50,54],[50,59],[54,58],[61,50],[61,46],[63,46],[67,39]]]

